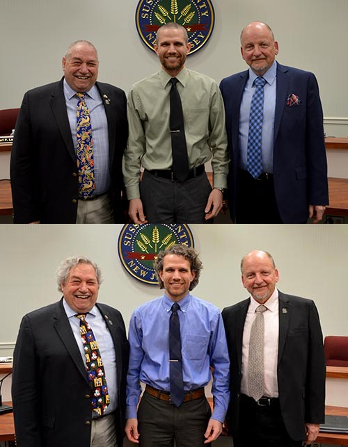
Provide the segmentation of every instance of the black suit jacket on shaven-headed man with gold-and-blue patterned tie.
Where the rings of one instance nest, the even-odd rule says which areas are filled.
[[[97,82],[109,129],[111,193],[116,222],[124,222],[122,156],[127,144],[126,96]],[[29,90],[19,111],[10,162],[15,223],[75,223],[78,176],[63,79]],[[125,206],[123,206],[125,208]]]

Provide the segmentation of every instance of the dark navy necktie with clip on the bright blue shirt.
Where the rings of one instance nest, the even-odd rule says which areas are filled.
[[[171,402],[179,407],[184,401],[184,383],[182,380],[182,357],[180,321],[177,311],[179,304],[175,302],[171,307],[171,318],[169,320],[169,375],[171,384]]]

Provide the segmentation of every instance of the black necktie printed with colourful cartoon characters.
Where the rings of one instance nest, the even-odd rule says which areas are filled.
[[[78,314],[77,318],[80,320],[80,335],[82,343],[84,343],[88,382],[92,393],[93,414],[100,417],[110,404],[102,357],[93,330],[86,321],[86,314]]]

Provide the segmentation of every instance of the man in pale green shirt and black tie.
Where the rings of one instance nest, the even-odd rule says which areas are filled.
[[[129,92],[123,175],[129,216],[137,224],[211,222],[223,206],[229,162],[223,100],[213,79],[185,68],[190,48],[183,26],[161,26],[155,45],[161,70],[135,83]],[[187,177],[180,180],[173,172],[172,78],[177,79],[182,103],[189,164]],[[210,159],[213,189],[204,169]]]

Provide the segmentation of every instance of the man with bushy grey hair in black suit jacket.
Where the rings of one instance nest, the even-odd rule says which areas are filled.
[[[18,447],[122,447],[129,345],[120,312],[96,304],[100,269],[68,258],[57,274],[61,301],[24,316],[14,352],[13,410]],[[79,318],[86,314],[104,364],[110,403],[97,415]],[[97,444],[95,444],[95,442]]]

